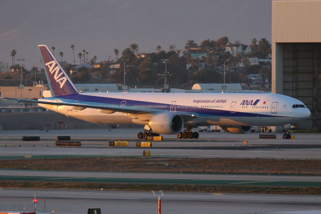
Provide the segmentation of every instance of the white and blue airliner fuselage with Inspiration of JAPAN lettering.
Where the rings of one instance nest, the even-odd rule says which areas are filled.
[[[219,93],[83,93],[50,97],[69,103],[88,103],[178,114],[193,113],[184,126],[281,126],[304,120],[310,111],[302,102],[281,94]],[[145,124],[141,117],[99,109],[73,109],[72,106],[39,104],[70,117],[101,124]],[[294,107],[293,107],[294,105]],[[298,105],[297,108],[295,108]],[[301,107],[300,107],[301,105]],[[161,113],[160,112],[160,113]]]

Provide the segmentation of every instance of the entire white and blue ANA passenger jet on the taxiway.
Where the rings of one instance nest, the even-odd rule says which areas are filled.
[[[252,126],[282,126],[310,116],[306,106],[281,94],[216,93],[80,93],[46,45],[39,45],[52,97],[17,101],[93,123],[144,125],[137,137],[177,134],[198,138],[193,127],[219,125],[230,133]],[[183,130],[185,129],[185,130]]]

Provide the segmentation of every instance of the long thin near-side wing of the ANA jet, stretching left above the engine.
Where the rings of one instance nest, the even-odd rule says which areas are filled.
[[[104,109],[104,110],[111,110],[111,111],[118,111],[118,112],[125,112],[130,114],[149,114],[149,113],[164,113],[164,110],[149,110],[149,109],[139,109],[139,108],[126,108],[126,107],[110,107],[110,106],[98,106],[98,105],[91,105],[91,104],[81,104],[81,103],[68,103],[68,102],[50,102],[50,101],[42,101],[42,100],[29,100],[29,99],[19,99],[19,98],[10,98],[4,97],[6,100],[13,100],[13,101],[22,101],[22,102],[31,102],[31,103],[41,103],[47,105],[55,105],[55,106],[77,106],[83,108],[92,108],[92,109]],[[195,113],[192,112],[176,112],[182,116],[187,117],[196,117]]]

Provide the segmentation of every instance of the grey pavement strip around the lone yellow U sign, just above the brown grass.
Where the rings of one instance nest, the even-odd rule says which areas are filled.
[[[90,156],[143,156],[143,150],[150,150],[152,157],[225,157],[225,158],[288,158],[320,159],[321,149],[282,149],[270,150],[202,150],[202,149],[154,149],[152,148],[66,148],[66,147],[0,147],[0,158],[57,158]]]

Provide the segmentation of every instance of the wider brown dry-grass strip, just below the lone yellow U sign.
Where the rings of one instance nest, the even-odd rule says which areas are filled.
[[[0,160],[7,169],[137,173],[321,175],[321,160],[263,158],[92,157]]]

